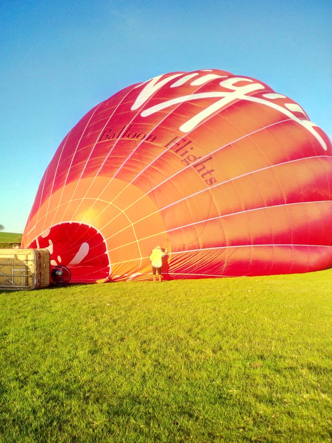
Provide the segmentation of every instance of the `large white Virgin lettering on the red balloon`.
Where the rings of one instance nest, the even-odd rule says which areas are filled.
[[[269,106],[270,108],[273,108],[285,114],[287,117],[296,121],[298,124],[301,124],[301,126],[303,126],[309,132],[311,132],[311,134],[313,134],[313,136],[318,140],[322,148],[325,151],[327,150],[325,141],[315,130],[315,128],[317,128],[317,125],[309,120],[309,117],[301,108],[301,106],[297,105],[297,103],[294,102],[288,103],[287,101],[289,101],[290,99],[288,99],[286,96],[282,94],[274,92],[263,93],[260,95],[257,94],[263,89],[266,89],[265,85],[262,85],[259,82],[255,82],[251,78],[247,77],[228,78],[228,76],[222,76],[217,74],[200,75],[199,73],[187,74],[179,78],[180,76],[183,76],[183,74],[174,74],[166,78],[162,78],[162,75],[159,75],[158,77],[152,78],[140,91],[134,104],[131,106],[131,110],[139,109],[147,102],[147,100],[156,91],[158,91],[158,89],[162,88],[167,84],[168,84],[167,86],[169,86],[170,88],[177,88],[189,82],[190,86],[197,86],[197,85],[203,85],[204,83],[208,83],[216,78],[224,78],[219,82],[220,91],[217,90],[217,91],[207,91],[201,93],[191,93],[188,95],[183,95],[173,98],[171,100],[165,100],[162,101],[161,103],[158,103],[158,105],[154,105],[151,106],[150,108],[143,109],[140,115],[142,117],[147,117],[151,114],[161,111],[162,109],[168,108],[173,105],[177,105],[179,103],[183,103],[185,101],[200,100],[209,97],[217,98],[218,100],[215,101],[215,103],[201,110],[195,116],[191,117],[184,124],[182,124],[179,128],[181,132],[190,132],[194,128],[196,128],[203,120],[205,120],[213,113],[218,112],[220,109],[227,108],[229,105],[232,105],[232,103],[234,103],[235,101],[247,100]],[[177,80],[175,82],[172,82],[176,78]],[[195,79],[193,80],[193,78]],[[253,95],[254,93],[255,96]],[[278,103],[276,103],[276,100],[278,100]],[[297,113],[297,115],[295,115],[294,113]]]

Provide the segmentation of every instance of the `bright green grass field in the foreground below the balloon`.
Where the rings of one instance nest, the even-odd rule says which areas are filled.
[[[332,270],[0,294],[0,441],[329,442]]]

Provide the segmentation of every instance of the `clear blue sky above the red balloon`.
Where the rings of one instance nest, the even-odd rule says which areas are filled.
[[[325,0],[3,0],[0,224],[23,232],[48,163],[85,113],[159,74],[257,78],[332,138],[331,13]]]

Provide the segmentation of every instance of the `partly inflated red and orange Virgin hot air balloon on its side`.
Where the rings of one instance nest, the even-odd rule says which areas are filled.
[[[332,266],[332,146],[296,102],[222,70],[159,75],[89,111],[42,177],[22,246],[72,282]]]

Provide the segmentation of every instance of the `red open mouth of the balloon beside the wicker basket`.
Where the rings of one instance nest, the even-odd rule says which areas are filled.
[[[76,221],[58,223],[42,232],[29,248],[50,252],[50,272],[62,265],[71,272],[71,283],[109,279],[111,263],[104,236],[95,227]]]

